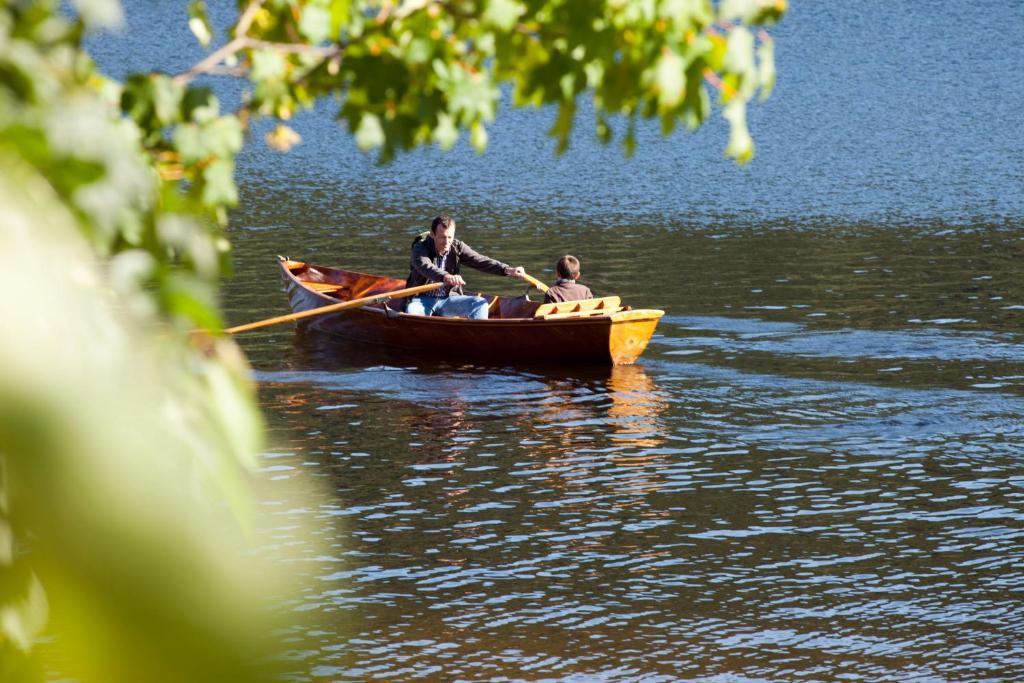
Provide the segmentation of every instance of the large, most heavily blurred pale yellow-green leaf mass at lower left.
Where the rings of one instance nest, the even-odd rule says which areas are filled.
[[[260,433],[244,361],[133,322],[53,190],[9,155],[0,168],[16,255],[0,269],[2,679],[259,678],[263,598],[285,584],[240,526]]]

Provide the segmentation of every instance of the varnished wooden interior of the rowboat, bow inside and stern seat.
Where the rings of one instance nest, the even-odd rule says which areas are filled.
[[[353,270],[322,268],[302,261],[285,260],[284,265],[305,287],[339,301],[351,301],[375,294],[393,292],[406,287],[404,281],[395,278],[371,275]],[[500,297],[488,294],[480,296],[489,302],[487,314],[492,319],[595,317],[629,310],[628,306],[624,308],[621,305],[622,301],[616,296],[547,304],[531,301],[523,296]],[[393,310],[402,310],[404,300],[396,298],[388,302],[387,305]],[[379,309],[381,306],[373,305],[368,306],[368,308]]]

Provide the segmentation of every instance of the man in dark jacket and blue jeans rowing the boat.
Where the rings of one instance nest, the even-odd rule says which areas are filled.
[[[473,251],[465,242],[456,240],[455,219],[441,214],[434,218],[429,232],[422,233],[413,242],[413,256],[410,259],[412,268],[406,287],[441,281],[444,287],[413,297],[406,305],[406,312],[414,315],[460,315],[478,321],[486,319],[487,300],[462,293],[466,281],[459,274],[459,268],[463,263],[493,275],[523,280],[526,274],[521,267],[512,267],[487,258]]]

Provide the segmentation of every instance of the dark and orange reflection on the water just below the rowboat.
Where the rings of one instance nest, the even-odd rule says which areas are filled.
[[[517,414],[523,430],[539,432],[537,451],[556,454],[581,446],[610,454],[657,449],[666,440],[660,416],[669,405],[642,365],[501,366],[453,362],[408,351],[346,342],[298,329],[292,368],[318,373],[402,370],[402,398],[416,403],[404,419],[432,425],[436,435],[455,438],[467,420],[501,404]],[[403,425],[412,427],[413,425]],[[599,444],[599,445],[598,445]]]

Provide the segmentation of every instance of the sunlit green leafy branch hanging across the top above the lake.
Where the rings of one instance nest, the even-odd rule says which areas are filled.
[[[551,134],[559,151],[578,97],[589,93],[599,139],[611,141],[618,128],[627,154],[637,117],[658,119],[666,134],[696,128],[715,92],[731,130],[726,154],[742,163],[754,155],[746,102],[775,81],[763,27],[781,18],[786,0],[266,0],[240,8],[229,40],[178,82],[248,77],[244,116],[286,120],[338,95],[339,118],[383,162],[421,144],[451,147],[466,132],[482,152],[508,83],[516,105],[558,109]],[[214,32],[205,3],[194,1],[189,15],[206,44]]]

